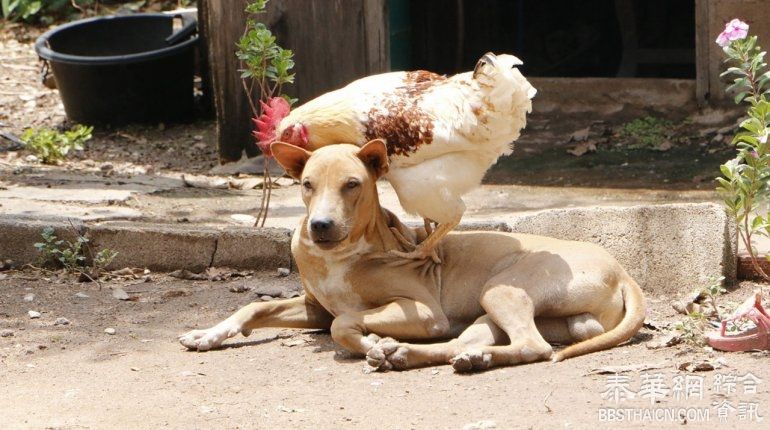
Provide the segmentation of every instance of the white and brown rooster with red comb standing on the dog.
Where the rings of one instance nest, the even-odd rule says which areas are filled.
[[[290,110],[283,98],[255,119],[260,149],[283,141],[307,150],[335,143],[387,142],[393,185],[404,210],[425,219],[428,237],[401,257],[438,262],[434,248],[465,212],[462,196],[480,183],[526,126],[536,90],[512,55],[485,54],[472,72],[427,71],[358,79]],[[435,230],[430,223],[436,224]]]

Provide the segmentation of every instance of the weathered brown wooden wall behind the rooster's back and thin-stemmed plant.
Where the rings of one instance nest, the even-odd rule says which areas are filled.
[[[256,154],[251,111],[241,86],[235,44],[243,33],[245,0],[200,0],[208,49],[220,161]],[[295,84],[286,92],[303,103],[329,90],[389,69],[387,0],[272,0],[260,19],[295,54]]]

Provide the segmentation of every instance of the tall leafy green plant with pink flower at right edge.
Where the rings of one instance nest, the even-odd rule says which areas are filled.
[[[758,209],[770,200],[770,148],[767,137],[770,129],[770,71],[764,62],[765,52],[757,44],[756,36],[748,36],[748,25],[733,20],[717,39],[729,65],[722,76],[733,82],[727,91],[735,93],[736,103],[748,105],[748,118],[741,122],[741,131],[733,138],[737,156],[720,166],[722,177],[717,178],[718,190],[725,205],[738,223],[738,232],[751,258],[754,269],[765,280],[770,276],[759,265],[753,246],[755,234],[770,236],[770,213],[758,214]],[[770,256],[766,256],[770,259]]]

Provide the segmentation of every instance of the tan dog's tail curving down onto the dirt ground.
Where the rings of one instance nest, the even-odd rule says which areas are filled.
[[[553,355],[554,362],[612,348],[613,346],[631,339],[631,337],[642,328],[646,313],[642,289],[639,287],[639,284],[634,282],[628,275],[626,275],[625,280],[621,282],[625,314],[623,315],[623,319],[620,320],[620,323],[607,332],[592,337],[591,339],[584,340],[583,342],[570,345],[557,352]]]

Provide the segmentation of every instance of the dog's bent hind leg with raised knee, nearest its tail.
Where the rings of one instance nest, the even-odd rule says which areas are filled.
[[[521,288],[490,284],[481,295],[481,306],[510,339],[504,346],[468,349],[452,361],[459,372],[544,360],[553,348],[537,330],[534,305]]]

